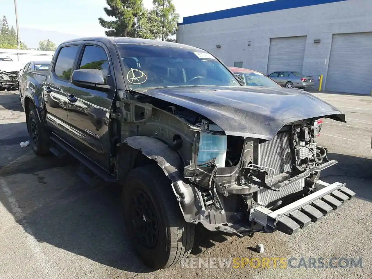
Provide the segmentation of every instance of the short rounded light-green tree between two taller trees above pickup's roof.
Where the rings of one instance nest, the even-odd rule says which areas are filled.
[[[142,8],[137,17],[134,36],[136,38],[152,40],[160,38],[161,26],[154,10]]]

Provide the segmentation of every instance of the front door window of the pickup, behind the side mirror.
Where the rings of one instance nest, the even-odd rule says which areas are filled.
[[[96,69],[102,71],[102,76],[107,84],[109,74],[109,61],[103,48],[95,45],[87,45],[84,48],[79,69]]]

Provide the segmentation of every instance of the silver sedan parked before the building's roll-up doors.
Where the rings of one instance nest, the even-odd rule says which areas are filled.
[[[287,88],[302,88],[314,86],[314,77],[305,76],[298,71],[276,71],[269,74],[269,77]]]

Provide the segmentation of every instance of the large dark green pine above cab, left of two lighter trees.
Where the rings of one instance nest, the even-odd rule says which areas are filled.
[[[116,20],[104,20],[100,17],[99,23],[106,36],[134,37],[137,17],[142,10],[142,0],[106,0],[109,7],[103,8],[106,15]]]

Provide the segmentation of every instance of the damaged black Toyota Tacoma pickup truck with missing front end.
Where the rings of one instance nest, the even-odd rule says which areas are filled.
[[[346,122],[343,113],[303,90],[245,87],[202,49],[75,39],[37,75],[22,92],[33,150],[72,154],[88,182],[121,183],[126,229],[148,266],[187,257],[198,223],[291,235],[355,196],[320,180],[337,163],[317,145],[323,119]]]

